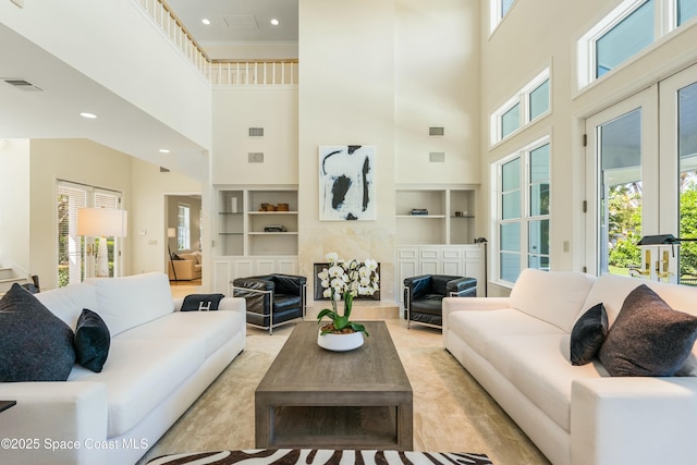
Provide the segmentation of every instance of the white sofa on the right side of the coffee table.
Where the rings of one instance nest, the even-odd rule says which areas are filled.
[[[598,359],[570,363],[575,321],[602,303],[611,331],[643,283],[697,315],[697,287],[528,269],[510,297],[443,299],[443,342],[555,465],[697,463],[696,377],[611,377]]]

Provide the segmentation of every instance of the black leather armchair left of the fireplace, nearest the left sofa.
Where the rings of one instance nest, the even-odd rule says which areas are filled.
[[[305,317],[307,278],[266,274],[232,281],[234,297],[247,301],[247,325],[268,329]]]

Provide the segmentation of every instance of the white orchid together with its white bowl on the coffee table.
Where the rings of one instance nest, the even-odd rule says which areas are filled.
[[[322,295],[331,301],[331,308],[322,309],[317,315],[317,322],[329,317],[331,322],[321,327],[317,336],[317,343],[332,351],[350,351],[363,345],[363,334],[366,336],[366,328],[355,321],[351,321],[351,308],[353,298],[357,295],[372,295],[380,289],[380,276],[378,262],[368,258],[364,262],[356,259],[344,261],[337,253],[327,254],[329,268],[322,269],[318,277],[325,289]],[[344,301],[344,311],[339,311],[339,301]],[[339,336],[339,338],[337,338]],[[343,336],[343,338],[342,338]]]

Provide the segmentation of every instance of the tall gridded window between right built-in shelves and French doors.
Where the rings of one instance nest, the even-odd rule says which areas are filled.
[[[549,270],[550,150],[540,139],[496,164],[498,277],[513,283],[523,268]]]

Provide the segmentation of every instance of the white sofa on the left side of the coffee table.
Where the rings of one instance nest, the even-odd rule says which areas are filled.
[[[12,464],[134,464],[240,354],[245,301],[219,311],[178,311],[164,273],[93,279],[37,294],[73,330],[83,308],[107,323],[101,372],[75,365],[65,382],[0,383],[0,450]],[[27,442],[29,441],[29,442]],[[27,445],[28,444],[28,445]],[[54,448],[54,450],[52,450]]]

